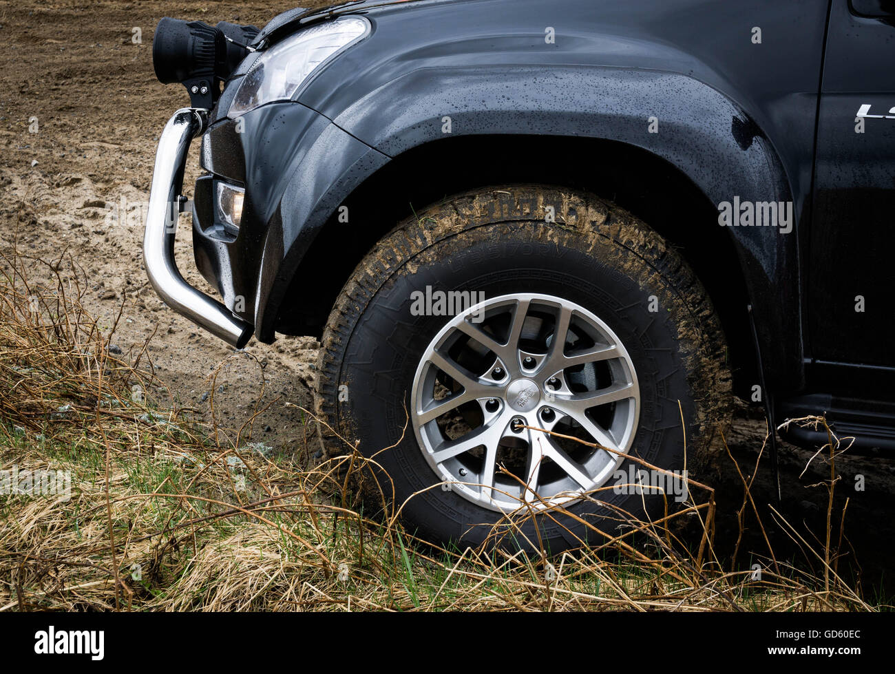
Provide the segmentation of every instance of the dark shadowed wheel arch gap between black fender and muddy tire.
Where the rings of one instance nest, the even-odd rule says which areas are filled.
[[[582,155],[600,161],[582,172],[579,162],[549,160]],[[471,162],[473,156],[495,160]],[[712,297],[729,338],[737,391],[744,393],[755,383],[749,292],[744,274],[731,273],[740,269],[741,261],[731,230],[717,225],[712,200],[677,166],[646,149],[604,139],[457,136],[423,143],[392,158],[343,200],[348,224],[339,222],[336,210],[320,227],[283,293],[302,301],[285,302],[277,310],[277,331],[319,336],[346,279],[401,220],[452,194],[511,183],[591,192],[655,229],[678,248]],[[352,226],[351,236],[345,235],[346,226]],[[303,290],[309,286],[312,293]]]

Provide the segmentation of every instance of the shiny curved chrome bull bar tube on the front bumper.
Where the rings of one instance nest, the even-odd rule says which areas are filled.
[[[254,328],[234,316],[224,304],[184,281],[174,258],[177,219],[183,200],[183,166],[192,139],[205,128],[205,115],[205,110],[190,107],[177,110],[158,139],[143,236],[143,262],[149,283],[164,303],[230,346],[241,349],[251,339]]]

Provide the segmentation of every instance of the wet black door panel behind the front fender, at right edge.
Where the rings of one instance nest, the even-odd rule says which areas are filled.
[[[895,4],[890,8],[895,11]],[[865,104],[883,118],[865,119],[864,132],[857,133],[855,115]],[[884,118],[892,107],[895,27],[849,15],[848,3],[835,0],[818,120],[815,216],[805,255],[809,337],[817,359],[895,365],[895,118]],[[865,311],[855,311],[858,296]]]

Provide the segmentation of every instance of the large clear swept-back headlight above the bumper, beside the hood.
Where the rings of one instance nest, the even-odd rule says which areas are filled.
[[[364,38],[370,22],[360,16],[310,26],[263,52],[236,90],[233,119],[275,100],[290,100],[324,62]]]

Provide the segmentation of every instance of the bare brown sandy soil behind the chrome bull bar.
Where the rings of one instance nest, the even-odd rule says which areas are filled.
[[[320,4],[320,3],[317,3]],[[207,336],[161,303],[142,267],[145,202],[158,133],[186,91],[163,86],[152,71],[152,35],[163,16],[263,25],[294,6],[271,3],[0,3],[0,237],[4,250],[44,260],[71,255],[83,268],[91,313],[111,325],[123,311],[115,346],[147,355],[172,396],[209,420],[209,374],[216,417],[245,422],[259,399],[273,403],[255,423],[254,439],[286,447],[303,437],[302,415],[283,403],[310,404],[316,342],[282,337],[253,342],[250,356]],[[141,43],[134,43],[134,29]],[[186,185],[199,173],[195,144]],[[192,261],[189,217],[182,217],[176,255],[184,277],[211,289]],[[37,265],[32,280],[51,284]],[[145,361],[144,361],[145,363]],[[223,388],[221,388],[223,387]],[[165,404],[164,392],[158,395]]]

